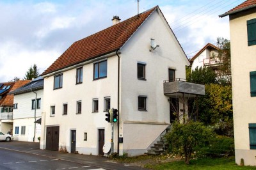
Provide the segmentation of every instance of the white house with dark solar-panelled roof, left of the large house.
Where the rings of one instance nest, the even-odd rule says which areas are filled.
[[[38,141],[41,135],[44,79],[38,77],[11,91],[13,99],[13,136],[17,141]],[[37,123],[35,123],[37,122]]]

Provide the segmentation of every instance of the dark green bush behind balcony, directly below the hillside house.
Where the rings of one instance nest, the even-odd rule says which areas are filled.
[[[216,83],[216,73],[211,67],[198,66],[191,72],[191,68],[186,69],[186,79],[188,82],[194,82],[197,84],[210,84]]]

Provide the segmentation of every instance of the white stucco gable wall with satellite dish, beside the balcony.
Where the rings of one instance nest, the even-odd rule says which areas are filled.
[[[152,52],[149,51],[150,38],[159,45]],[[163,93],[163,81],[168,80],[168,68],[175,69],[175,78],[186,79],[185,66],[189,63],[170,28],[157,12],[152,13],[120,51],[120,121],[123,122],[120,133],[124,135],[120,149],[129,155],[140,155],[147,151],[152,141],[170,123],[170,104]],[[146,63],[146,81],[137,77],[138,62]],[[138,111],[139,95],[147,96],[147,111]]]

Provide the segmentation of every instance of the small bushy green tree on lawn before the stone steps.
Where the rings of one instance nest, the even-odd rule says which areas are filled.
[[[212,130],[203,123],[188,121],[184,124],[173,123],[172,131],[166,134],[166,141],[172,153],[185,156],[185,164],[189,164],[191,153],[196,146],[206,146],[213,136]]]

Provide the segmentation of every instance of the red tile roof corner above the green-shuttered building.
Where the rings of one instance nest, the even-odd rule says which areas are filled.
[[[256,0],[247,0],[247,1],[244,1],[243,3],[237,5],[235,8],[229,10],[228,12],[223,13],[219,17],[225,17],[232,13],[241,12],[243,10],[247,10],[247,9],[255,8],[255,7],[256,7]]]

